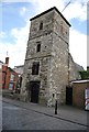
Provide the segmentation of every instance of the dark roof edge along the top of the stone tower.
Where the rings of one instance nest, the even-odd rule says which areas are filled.
[[[54,10],[54,9],[55,9],[55,10],[58,12],[58,14],[65,20],[65,22],[66,22],[69,26],[71,26],[70,23],[64,18],[64,15],[58,11],[58,9],[57,9],[56,7],[53,7],[53,8],[48,9],[48,10],[46,10],[46,11],[37,14],[36,16],[33,16],[32,19],[30,19],[30,21],[32,21],[32,20],[34,20],[34,19],[37,19],[37,18],[40,18],[41,15],[43,15],[43,14],[45,14],[45,13],[47,13],[47,12]]]

